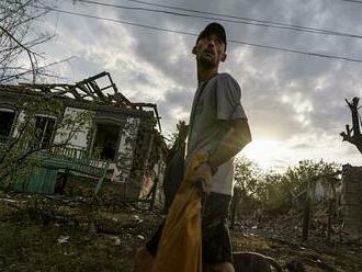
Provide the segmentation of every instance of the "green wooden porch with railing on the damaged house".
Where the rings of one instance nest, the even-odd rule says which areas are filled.
[[[0,137],[0,158],[11,144],[10,137]],[[94,195],[100,191],[111,161],[93,158],[79,147],[54,146],[30,155],[32,161],[26,177],[15,177],[14,190],[30,193],[54,194],[56,186],[66,184],[70,174],[95,180]]]

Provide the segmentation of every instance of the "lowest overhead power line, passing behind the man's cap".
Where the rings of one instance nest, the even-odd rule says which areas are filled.
[[[127,25],[149,29],[149,30],[154,30],[154,31],[177,33],[177,34],[190,35],[190,36],[199,36],[199,34],[191,33],[191,32],[168,30],[168,29],[162,29],[162,27],[158,27],[158,26],[145,25],[145,24],[133,23],[133,22],[121,21],[121,20],[97,16],[97,15],[90,15],[90,14],[84,14],[84,13],[80,13],[80,12],[72,12],[72,11],[66,11],[66,10],[59,10],[59,9],[53,9],[53,8],[48,8],[48,10],[59,12],[59,13],[65,13],[65,14],[71,14],[71,15],[77,15],[77,16],[109,21],[109,22],[118,23],[118,24],[127,24]],[[343,56],[335,56],[335,55],[327,55],[327,54],[319,54],[319,53],[312,53],[312,52],[295,50],[295,49],[279,47],[279,46],[254,44],[254,43],[248,43],[248,42],[242,42],[242,41],[237,41],[237,39],[227,39],[227,41],[228,41],[228,43],[234,43],[234,44],[242,44],[242,45],[249,45],[252,47],[268,48],[268,49],[274,49],[274,50],[280,50],[280,52],[299,54],[299,55],[308,55],[308,56],[329,58],[329,59],[339,59],[339,60],[346,60],[346,61],[352,61],[352,63],[362,63],[362,59],[349,58],[349,57],[343,57]]]

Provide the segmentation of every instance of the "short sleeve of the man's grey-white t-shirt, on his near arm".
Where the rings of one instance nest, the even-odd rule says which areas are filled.
[[[225,73],[216,82],[216,118],[247,118],[241,105],[241,88],[229,75]]]

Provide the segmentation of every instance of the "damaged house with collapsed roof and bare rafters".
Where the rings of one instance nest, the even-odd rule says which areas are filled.
[[[26,121],[30,101],[56,101],[57,114],[43,109]],[[75,84],[0,86],[0,149],[31,122],[37,134],[26,148],[47,158],[47,172],[33,177],[27,191],[54,193],[56,177],[66,169],[98,177],[99,186],[103,180],[120,184],[127,199],[149,194],[165,169],[159,120],[156,104],[131,102],[108,72]],[[78,121],[83,125],[73,129]]]

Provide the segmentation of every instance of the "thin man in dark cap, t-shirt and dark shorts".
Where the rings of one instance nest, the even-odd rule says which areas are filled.
[[[226,59],[226,33],[218,23],[203,30],[192,53],[196,57],[199,87],[190,116],[185,166],[196,152],[208,154],[207,162],[191,174],[195,183],[203,180],[202,252],[204,271],[233,272],[227,226],[233,195],[234,157],[251,135],[240,104],[241,90],[228,73],[218,73]],[[205,182],[210,180],[211,182]],[[151,271],[162,227],[136,254],[136,271]]]

